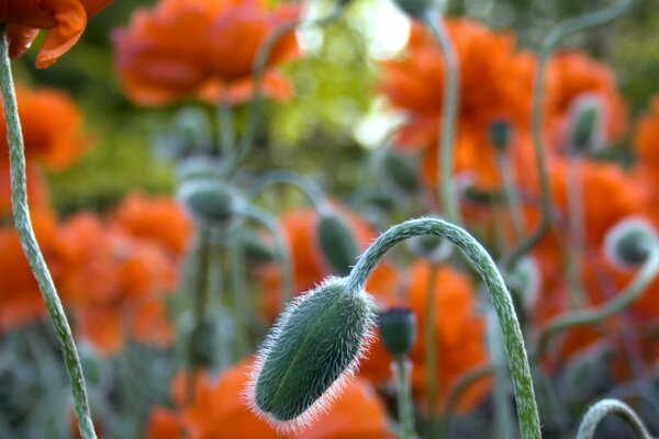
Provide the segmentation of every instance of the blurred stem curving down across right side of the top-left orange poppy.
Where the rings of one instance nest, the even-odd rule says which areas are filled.
[[[264,74],[270,53],[277,45],[277,43],[286,36],[288,33],[295,31],[299,27],[311,27],[325,25],[340,15],[343,11],[343,4],[337,4],[332,13],[327,16],[323,16],[316,20],[303,21],[293,20],[290,23],[283,23],[276,27],[260,45],[256,58],[254,59],[254,66],[252,69],[252,78],[254,80],[254,95],[249,102],[249,110],[247,113],[247,126],[245,133],[241,137],[237,149],[232,154],[224,166],[220,170],[220,175],[223,178],[228,178],[236,171],[245,156],[249,153],[256,138],[256,131],[258,128],[258,122],[261,115],[261,103],[264,92]]]

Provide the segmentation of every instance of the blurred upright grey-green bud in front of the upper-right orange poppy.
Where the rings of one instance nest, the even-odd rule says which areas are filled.
[[[569,112],[568,148],[572,154],[593,153],[603,147],[602,104],[593,94],[583,94]]]

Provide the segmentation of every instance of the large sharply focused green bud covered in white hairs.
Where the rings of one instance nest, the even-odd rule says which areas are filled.
[[[257,354],[247,395],[280,431],[306,426],[340,392],[370,342],[375,304],[331,278],[295,299]]]

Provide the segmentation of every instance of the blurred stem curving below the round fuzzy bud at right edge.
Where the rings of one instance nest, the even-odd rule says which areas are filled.
[[[617,314],[629,306],[659,274],[659,249],[652,247],[648,258],[634,277],[634,280],[601,306],[590,309],[574,311],[549,320],[538,336],[538,348],[534,360],[539,360],[547,349],[552,336],[577,326],[593,325]]]

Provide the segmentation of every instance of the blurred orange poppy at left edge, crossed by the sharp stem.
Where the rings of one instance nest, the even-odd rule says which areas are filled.
[[[27,160],[52,169],[71,165],[87,146],[80,134],[82,115],[71,99],[55,89],[24,87],[16,88],[16,99]],[[8,148],[4,120],[0,121],[0,148]],[[7,160],[5,154],[0,157],[0,162]]]

